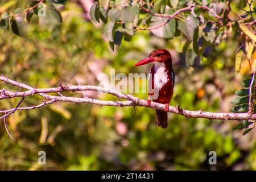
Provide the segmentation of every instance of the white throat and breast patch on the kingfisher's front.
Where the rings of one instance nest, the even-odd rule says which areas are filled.
[[[159,90],[169,81],[164,63],[156,62],[154,65],[154,86]]]

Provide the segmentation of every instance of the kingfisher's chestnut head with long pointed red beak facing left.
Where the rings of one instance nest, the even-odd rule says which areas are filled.
[[[135,67],[153,62],[162,63],[171,60],[172,57],[169,51],[167,51],[166,49],[156,49],[155,51],[151,52],[148,57],[136,63]]]

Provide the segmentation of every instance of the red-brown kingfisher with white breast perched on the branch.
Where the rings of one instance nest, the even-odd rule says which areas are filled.
[[[174,93],[175,74],[172,69],[172,57],[166,49],[156,49],[148,57],[135,64],[135,67],[154,63],[148,74],[148,106],[151,100],[166,105],[166,109],[156,110],[156,125],[167,128],[169,102]]]

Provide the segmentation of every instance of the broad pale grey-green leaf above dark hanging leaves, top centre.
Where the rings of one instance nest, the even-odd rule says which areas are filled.
[[[113,8],[109,10],[110,20],[122,20],[123,22],[133,22],[134,14],[129,7],[123,7],[122,9]]]

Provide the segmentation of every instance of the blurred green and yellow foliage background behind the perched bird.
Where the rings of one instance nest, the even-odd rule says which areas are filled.
[[[100,1],[105,3],[105,1]],[[232,1],[234,11],[241,1]],[[0,14],[26,9],[27,1],[1,1]],[[222,40],[208,56],[193,67],[185,62],[185,37],[164,39],[150,31],[137,31],[130,42],[122,42],[114,52],[104,35],[104,25],[89,20],[81,1],[58,4],[62,23],[38,26],[31,19],[26,36],[0,29],[0,73],[37,88],[98,85],[99,73],[146,73],[135,68],[138,60],[156,48],[168,49],[176,73],[171,105],[188,110],[228,112],[234,92],[243,88],[250,65],[242,56],[240,72],[235,57],[243,41],[236,32]],[[253,54],[256,59],[256,53]],[[139,84],[139,83],[136,83]],[[3,82],[1,88],[13,89]],[[82,93],[69,93],[82,96]],[[93,98],[116,100],[97,92]],[[147,99],[147,94],[134,94]],[[11,109],[19,100],[1,100],[0,108]],[[39,97],[27,98],[22,106],[37,105]],[[167,129],[155,125],[155,111],[145,107],[110,107],[57,103],[40,109],[16,111],[7,118],[11,139],[0,123],[1,170],[255,170],[256,133],[242,136],[232,130],[237,121],[187,119],[168,114]],[[38,152],[46,151],[46,165],[38,164]],[[209,165],[208,152],[217,152],[217,164]]]

